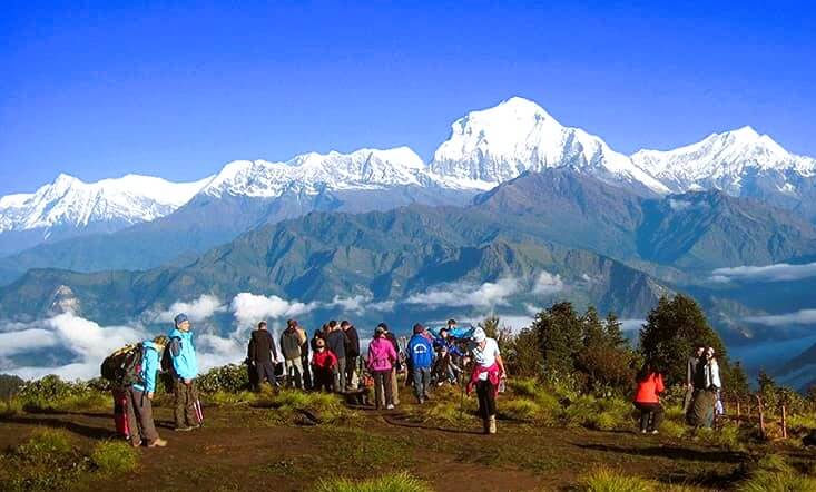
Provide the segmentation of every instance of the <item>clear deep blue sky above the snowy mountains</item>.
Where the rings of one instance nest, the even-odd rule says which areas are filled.
[[[0,195],[60,171],[429,158],[454,119],[513,95],[620,151],[751,125],[816,156],[816,8],[697,3],[3,2]]]

